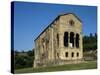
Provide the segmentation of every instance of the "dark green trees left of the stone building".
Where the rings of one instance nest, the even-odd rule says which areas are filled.
[[[17,52],[15,54],[14,66],[15,69],[32,67],[34,61],[34,49],[26,51],[26,52]]]

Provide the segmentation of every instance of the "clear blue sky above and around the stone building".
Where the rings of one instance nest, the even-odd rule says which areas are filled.
[[[62,4],[14,3],[14,49],[31,50],[34,39],[59,15],[72,12],[83,22],[83,35],[97,32],[97,7]]]

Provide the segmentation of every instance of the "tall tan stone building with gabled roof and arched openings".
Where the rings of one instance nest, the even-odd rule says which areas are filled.
[[[83,59],[82,21],[61,14],[35,39],[34,67],[80,63]]]

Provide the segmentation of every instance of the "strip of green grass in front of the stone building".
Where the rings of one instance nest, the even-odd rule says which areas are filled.
[[[52,72],[52,71],[68,71],[68,70],[83,70],[83,69],[96,69],[97,62],[88,61],[87,63],[80,64],[66,64],[54,67],[44,67],[44,68],[24,68],[15,70],[15,73],[34,73],[34,72]]]

